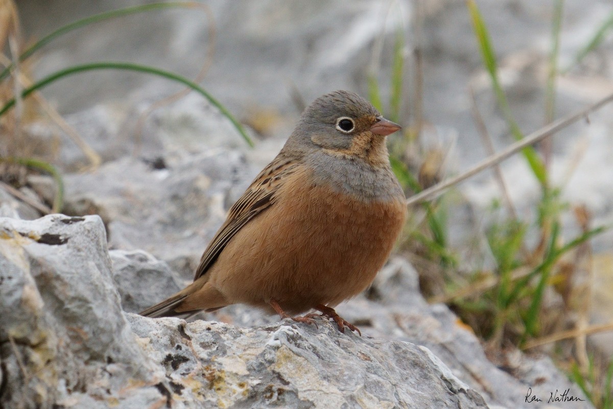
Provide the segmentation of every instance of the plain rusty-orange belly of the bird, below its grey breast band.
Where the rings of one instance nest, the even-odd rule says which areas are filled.
[[[403,197],[361,201],[305,184],[292,191],[246,224],[211,269],[211,284],[231,303],[265,308],[275,299],[301,313],[356,296],[383,266],[405,221]]]

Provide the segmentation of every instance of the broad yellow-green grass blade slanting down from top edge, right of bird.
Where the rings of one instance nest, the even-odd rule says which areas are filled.
[[[496,63],[496,56],[494,55],[493,47],[490,42],[489,32],[487,31],[485,22],[481,17],[481,12],[479,12],[479,8],[474,0],[466,0],[466,6],[468,7],[471,20],[473,21],[474,34],[479,44],[479,50],[481,50],[483,64],[492,80],[492,86],[496,95],[498,106],[503,112],[504,118],[509,126],[509,129],[511,130],[512,136],[516,140],[523,139],[524,134],[522,133],[521,129],[519,128],[519,125],[513,117],[511,107],[509,107],[509,103],[506,99],[506,96],[504,95],[503,88],[500,85],[500,80],[498,80],[498,66]],[[530,169],[532,170],[536,179],[539,181],[539,183],[541,183],[541,186],[546,187],[547,170],[545,168],[545,165],[543,164],[543,161],[541,160],[541,158],[539,158],[538,153],[536,153],[535,148],[524,148],[522,150],[522,153],[528,161]]]

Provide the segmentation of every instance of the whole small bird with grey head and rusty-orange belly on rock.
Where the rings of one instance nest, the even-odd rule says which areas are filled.
[[[404,224],[386,147],[398,129],[357,94],[316,99],[230,208],[194,282],[141,315],[185,318],[242,303],[314,323],[320,315],[289,315],[313,308],[356,331],[333,307],[372,283]]]

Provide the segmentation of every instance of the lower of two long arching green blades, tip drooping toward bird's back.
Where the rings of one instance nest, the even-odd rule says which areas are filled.
[[[245,129],[243,129],[243,126],[240,123],[238,123],[238,121],[232,116],[232,114],[226,109],[226,107],[221,105],[215,98],[213,98],[213,96],[211,96],[211,94],[205,91],[204,88],[192,82],[188,78],[185,78],[181,75],[174,74],[173,72],[164,71],[164,70],[161,70],[155,67],[143,66],[140,64],[132,64],[132,63],[121,63],[121,62],[89,63],[89,64],[72,66],[72,67],[63,69],[61,71],[54,72],[53,74],[50,74],[47,77],[43,78],[42,80],[34,83],[34,85],[29,86],[28,88],[23,90],[23,93],[21,93],[21,96],[25,98],[32,92],[39,90],[41,88],[44,88],[45,86],[59,80],[60,78],[67,77],[69,75],[79,74],[79,73],[86,72],[86,71],[94,71],[94,70],[101,70],[101,69],[118,69],[118,70],[141,72],[144,74],[158,75],[159,77],[164,77],[169,80],[173,80],[175,82],[179,82],[179,83],[182,83],[183,85],[188,86],[192,90],[204,96],[208,100],[208,102],[211,103],[211,105],[214,105],[219,110],[219,112],[221,112],[222,115],[224,115],[224,117],[226,117],[232,123],[234,128],[237,129],[238,133],[240,133],[240,135],[243,137],[243,139],[245,139],[245,141],[249,144],[249,146],[253,147],[253,142],[251,141],[249,136],[247,136]],[[4,104],[4,107],[0,109],[0,117],[4,115],[4,113],[6,113],[11,107],[13,107],[13,105],[15,105],[15,98],[10,99],[10,101]]]

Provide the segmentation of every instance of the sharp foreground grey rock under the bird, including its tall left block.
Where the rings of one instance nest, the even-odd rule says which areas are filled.
[[[323,321],[251,329],[124,315],[97,216],[0,218],[0,229],[2,407],[487,407],[410,343]],[[123,272],[146,269],[134,283],[152,279],[146,254],[114,258]]]

